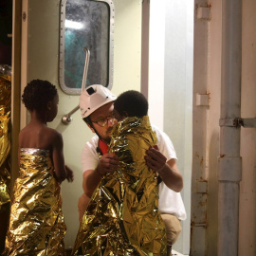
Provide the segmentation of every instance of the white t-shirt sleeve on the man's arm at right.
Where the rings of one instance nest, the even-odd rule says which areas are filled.
[[[157,137],[157,146],[159,148],[159,152],[161,152],[167,158],[167,161],[172,158],[177,159],[174,144],[170,137],[168,137],[166,133],[161,131],[155,125],[152,125],[152,129],[155,131],[155,135]]]

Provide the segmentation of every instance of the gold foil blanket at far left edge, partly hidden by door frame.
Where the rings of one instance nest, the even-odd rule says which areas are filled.
[[[0,212],[9,203],[9,149],[10,149],[10,94],[11,77],[5,69],[8,65],[0,66]],[[10,67],[9,67],[10,68]],[[9,70],[7,70],[9,71]]]

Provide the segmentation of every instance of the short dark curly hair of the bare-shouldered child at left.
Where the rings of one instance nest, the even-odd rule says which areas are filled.
[[[46,109],[48,101],[57,95],[55,85],[48,81],[32,80],[27,83],[22,95],[22,101],[28,110],[41,111]]]

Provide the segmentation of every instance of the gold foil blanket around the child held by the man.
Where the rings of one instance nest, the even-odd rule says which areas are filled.
[[[85,211],[73,255],[166,255],[158,214],[156,174],[145,151],[156,144],[148,117],[127,118],[113,129],[109,153],[119,169],[101,178]]]

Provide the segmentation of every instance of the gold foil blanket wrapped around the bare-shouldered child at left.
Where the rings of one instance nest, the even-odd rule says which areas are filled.
[[[60,184],[49,151],[21,149],[4,255],[64,255]]]

